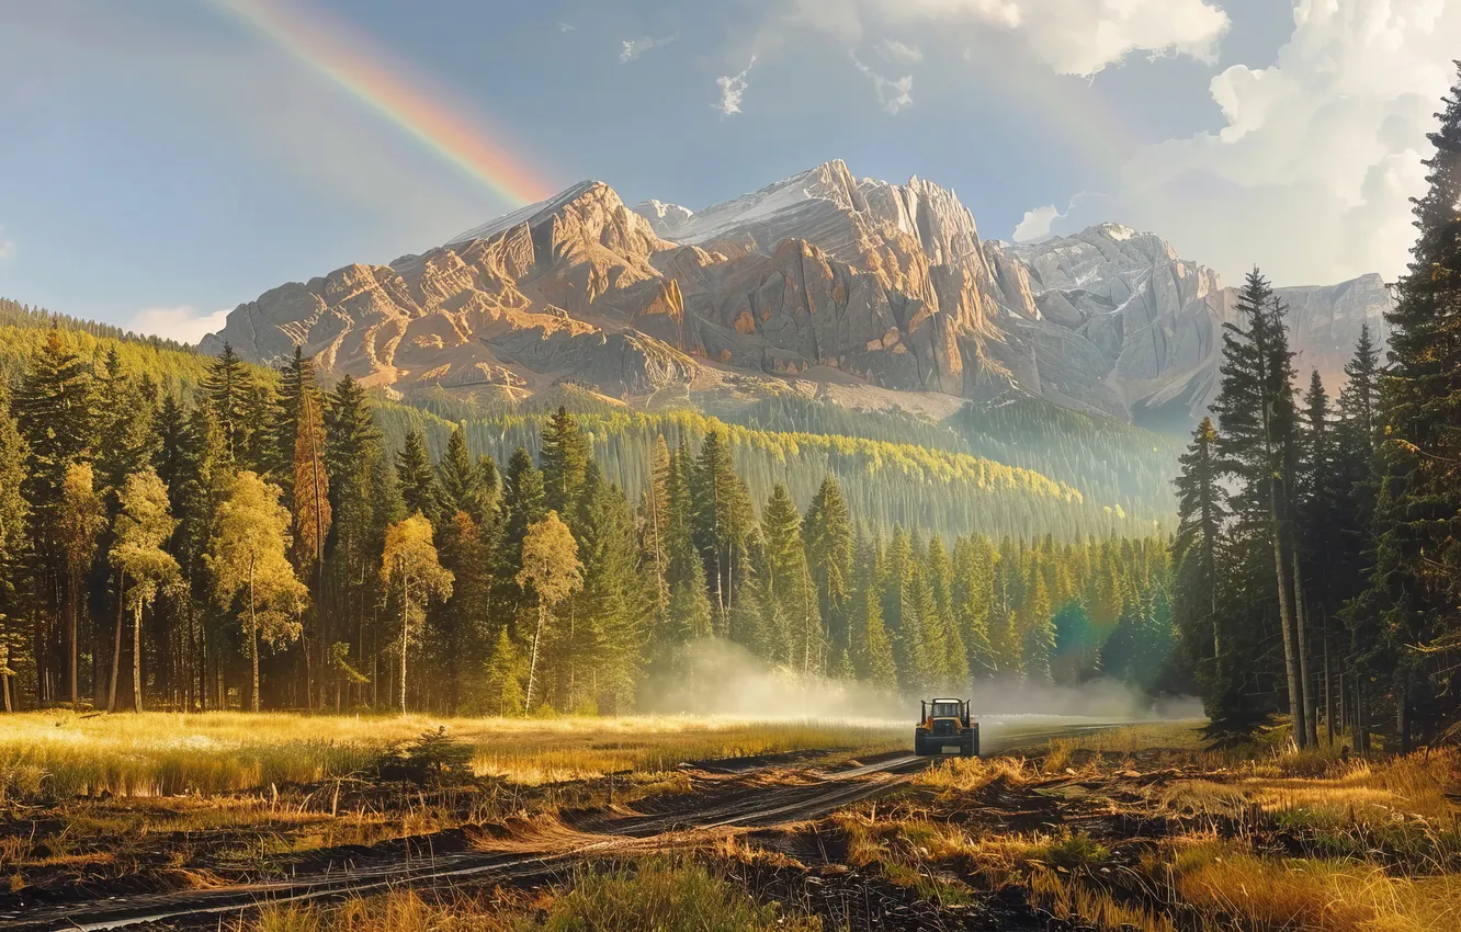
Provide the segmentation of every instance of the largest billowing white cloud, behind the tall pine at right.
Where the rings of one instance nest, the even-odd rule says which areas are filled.
[[[1286,285],[1392,278],[1457,48],[1461,0],[1297,0],[1271,67],[1213,79],[1224,126],[1140,150],[1112,191],[1119,216],[1102,219],[1159,231],[1229,279],[1255,263]]]

